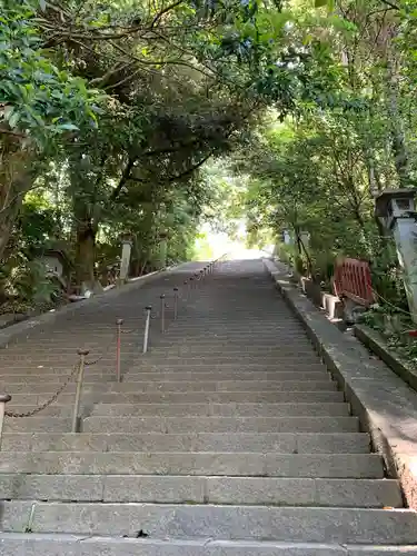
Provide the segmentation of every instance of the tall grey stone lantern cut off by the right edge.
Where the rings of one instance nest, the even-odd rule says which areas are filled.
[[[403,268],[404,286],[413,320],[417,322],[416,189],[387,189],[375,200],[375,215],[391,231]]]

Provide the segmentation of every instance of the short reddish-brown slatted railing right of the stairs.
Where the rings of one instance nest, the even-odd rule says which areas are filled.
[[[365,260],[346,258],[335,267],[335,295],[369,306],[375,302],[369,264]]]

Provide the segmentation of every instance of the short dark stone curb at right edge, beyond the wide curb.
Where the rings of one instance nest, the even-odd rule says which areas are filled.
[[[354,331],[364,346],[380,357],[396,375],[417,390],[417,371],[399,354],[393,354],[380,334],[365,325],[355,325]]]

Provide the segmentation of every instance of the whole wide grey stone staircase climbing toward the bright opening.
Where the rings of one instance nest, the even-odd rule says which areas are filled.
[[[139,355],[140,308],[182,279],[1,351],[1,387],[24,410],[56,391],[79,341],[93,359],[116,317],[138,330],[121,384],[113,354],[88,367],[79,434],[73,386],[6,421],[0,555],[417,555],[416,514],[260,261],[221,264]]]

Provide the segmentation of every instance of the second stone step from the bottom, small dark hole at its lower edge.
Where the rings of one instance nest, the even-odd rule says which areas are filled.
[[[341,526],[342,524],[342,526]],[[413,510],[4,502],[2,529],[298,543],[416,544]]]

